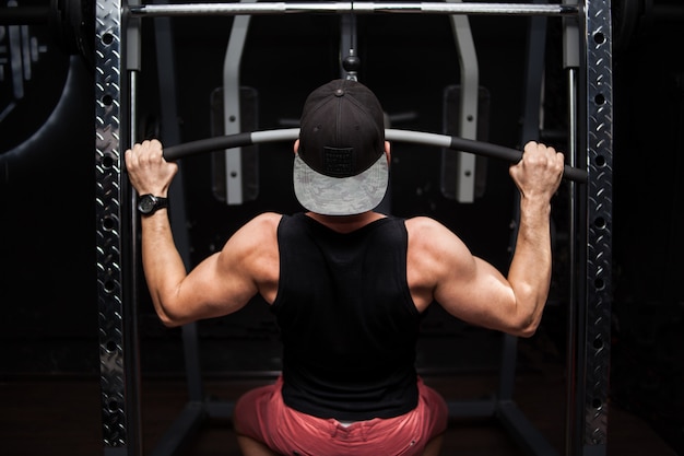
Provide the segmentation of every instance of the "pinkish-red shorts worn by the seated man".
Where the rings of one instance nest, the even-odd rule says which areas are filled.
[[[252,389],[235,405],[235,428],[282,455],[412,456],[447,429],[447,405],[418,378],[418,405],[409,413],[352,424],[302,413],[283,402],[282,377]]]

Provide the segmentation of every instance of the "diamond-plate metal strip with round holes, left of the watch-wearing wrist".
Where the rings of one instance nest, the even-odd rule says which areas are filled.
[[[120,48],[121,7],[95,7],[95,174],[97,293],[103,439],[127,443],[121,277]]]

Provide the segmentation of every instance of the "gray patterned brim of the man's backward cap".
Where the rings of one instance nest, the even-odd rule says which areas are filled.
[[[311,169],[295,153],[295,196],[304,208],[323,215],[353,215],[377,208],[389,179],[387,156],[365,172],[351,177],[330,177]]]

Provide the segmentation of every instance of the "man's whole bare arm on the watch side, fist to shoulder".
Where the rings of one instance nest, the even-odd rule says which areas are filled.
[[[144,141],[126,152],[133,187],[140,195],[165,197],[177,172],[163,159],[158,141]],[[231,314],[257,293],[267,300],[278,287],[280,215],[255,218],[216,253],[187,273],[174,243],[168,214],[161,209],[141,218],[142,262],[154,308],[167,326]]]

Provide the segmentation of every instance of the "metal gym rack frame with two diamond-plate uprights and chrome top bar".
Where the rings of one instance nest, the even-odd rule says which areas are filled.
[[[122,151],[134,142],[140,20],[189,14],[428,13],[563,16],[574,23],[565,38],[582,51],[566,61],[570,101],[570,165],[587,171],[586,185],[571,183],[573,268],[569,301],[566,455],[606,454],[612,260],[613,94],[610,0],[581,4],[514,3],[216,3],[95,5],[95,172],[97,305],[102,421],[105,455],[141,455],[140,369],[135,290],[134,198],[123,179]],[[569,32],[568,32],[569,31]],[[576,34],[574,36],[574,33]],[[581,113],[581,116],[579,115]],[[573,136],[577,132],[576,136]],[[401,138],[398,138],[401,140]],[[422,141],[421,139],[418,139]],[[426,142],[428,143],[428,142]],[[585,153],[586,151],[586,153]],[[181,211],[182,215],[182,211]],[[173,222],[173,221],[172,221]],[[130,230],[130,232],[128,231]],[[577,232],[576,232],[577,231]],[[127,233],[127,235],[122,235]],[[187,242],[187,239],[182,241]],[[583,246],[587,246],[586,249]],[[581,246],[582,248],[579,248]],[[182,252],[182,245],[179,246]],[[192,330],[192,329],[190,329]],[[189,353],[192,354],[192,353]],[[188,356],[186,356],[188,358]],[[191,356],[197,360],[196,356]],[[192,362],[186,360],[186,362]],[[198,385],[196,385],[198,386]],[[185,435],[207,416],[227,416],[229,404],[187,404],[155,454],[176,454]],[[196,388],[200,393],[199,387]],[[468,404],[449,405],[450,412]],[[492,410],[530,454],[555,455],[511,401]],[[462,416],[461,411],[458,411]]]

